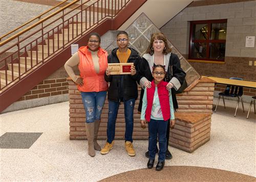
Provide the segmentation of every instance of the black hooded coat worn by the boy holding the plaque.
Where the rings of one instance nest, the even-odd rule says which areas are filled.
[[[108,56],[108,63],[120,63],[116,51],[118,48],[112,50],[112,53]],[[116,102],[120,102],[123,100],[129,100],[131,98],[138,97],[138,85],[137,81],[141,79],[139,75],[139,62],[141,60],[138,52],[131,49],[131,55],[127,60],[127,63],[134,63],[136,74],[123,74],[123,75],[110,75],[107,76],[105,74],[105,81],[110,82],[110,87],[108,91],[108,99]]]

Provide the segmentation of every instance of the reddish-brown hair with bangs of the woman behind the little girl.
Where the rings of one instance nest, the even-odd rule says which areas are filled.
[[[154,49],[152,50],[152,47],[153,47],[153,42],[156,39],[164,41],[164,45],[165,45],[165,49],[163,49],[164,55],[167,55],[168,53],[170,53],[170,51],[172,51],[170,49],[170,47],[168,46],[167,39],[166,39],[165,35],[161,32],[157,32],[157,33],[154,33],[151,35],[150,45],[148,45],[148,47],[146,49],[147,54],[150,54],[151,56],[154,54]]]

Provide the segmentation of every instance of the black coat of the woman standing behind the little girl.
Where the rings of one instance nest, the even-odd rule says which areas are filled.
[[[183,69],[180,66],[180,59],[178,58],[178,56],[176,54],[171,54],[172,57],[172,64],[173,64],[173,76],[176,77],[176,79],[179,80],[180,84],[182,85],[186,76],[186,73],[183,71]],[[170,73],[170,61],[169,61],[169,65],[168,65],[168,70],[167,73]],[[150,82],[153,81],[153,75],[150,69],[150,66],[148,65],[148,62],[146,59],[142,58],[141,62],[140,62],[140,67],[139,67],[139,71],[140,71],[140,75],[142,77],[145,76],[146,79]],[[171,76],[169,74],[167,74],[169,76],[169,80],[172,79]],[[139,82],[138,82],[139,83]],[[141,108],[142,108],[142,98],[144,95],[144,89],[141,89],[141,93],[140,93],[140,103],[139,103],[139,107],[138,107],[138,111],[141,112]],[[173,104],[174,104],[174,109],[178,109],[178,102],[176,99],[176,95],[172,92],[172,97],[173,97]]]

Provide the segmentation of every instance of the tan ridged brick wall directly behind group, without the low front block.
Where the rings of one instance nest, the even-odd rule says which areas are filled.
[[[70,139],[83,140],[86,139],[85,112],[81,100],[80,92],[73,81],[69,83],[69,102],[70,102]],[[204,78],[191,84],[185,93],[177,96],[180,109],[178,112],[198,112],[212,113],[212,99],[214,94],[214,81]],[[139,88],[140,95],[140,88]],[[134,139],[148,139],[147,129],[140,127],[140,114],[138,114],[139,99],[135,102],[134,109]],[[101,115],[101,124],[99,128],[98,138],[106,139],[106,124],[108,122],[108,99]],[[115,139],[124,139],[125,121],[124,107],[120,105],[116,120],[116,137]]]

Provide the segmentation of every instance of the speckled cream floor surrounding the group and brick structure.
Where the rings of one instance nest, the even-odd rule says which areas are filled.
[[[233,117],[235,106],[236,102],[226,100],[224,109],[220,103],[212,115],[210,141],[193,153],[169,147],[174,158],[166,160],[165,165],[216,168],[256,176],[256,117],[251,110],[246,119],[241,106],[237,117]],[[248,107],[246,103],[245,110]],[[98,181],[146,168],[147,141],[134,141],[137,154],[133,158],[126,154],[122,140],[115,141],[109,154],[97,151],[91,158],[86,141],[69,140],[68,111],[69,103],[62,102],[0,115],[1,142],[8,133],[38,133],[27,148],[18,148],[22,144],[19,142],[16,148],[1,143],[1,181]],[[101,146],[104,143],[99,141]]]

